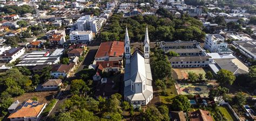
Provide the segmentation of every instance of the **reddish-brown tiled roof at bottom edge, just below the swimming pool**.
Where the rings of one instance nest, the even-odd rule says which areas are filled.
[[[206,110],[197,110],[194,112],[189,112],[188,116],[190,117],[190,121],[213,121],[210,112]]]

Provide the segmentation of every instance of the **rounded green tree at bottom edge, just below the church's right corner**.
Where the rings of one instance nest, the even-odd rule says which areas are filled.
[[[141,120],[156,120],[156,121],[158,120],[160,121],[164,119],[160,111],[154,106],[150,106],[149,108],[147,108],[146,111],[142,113],[141,118],[142,118]]]

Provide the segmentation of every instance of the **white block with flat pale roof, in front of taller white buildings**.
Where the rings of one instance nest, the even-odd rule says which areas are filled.
[[[93,34],[92,31],[72,31],[69,37],[73,44],[85,44],[93,39]]]

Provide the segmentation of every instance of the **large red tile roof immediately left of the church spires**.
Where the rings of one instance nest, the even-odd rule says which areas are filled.
[[[108,41],[102,42],[99,46],[95,58],[102,58],[104,56],[118,57],[124,53],[123,41]]]

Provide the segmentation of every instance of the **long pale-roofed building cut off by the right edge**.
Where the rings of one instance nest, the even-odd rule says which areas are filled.
[[[233,41],[232,45],[248,58],[256,60],[256,41]]]

